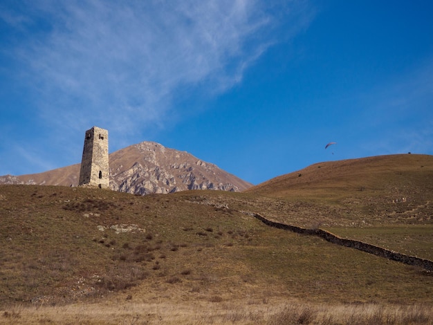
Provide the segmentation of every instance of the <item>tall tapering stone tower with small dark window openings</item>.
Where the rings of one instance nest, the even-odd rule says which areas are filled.
[[[78,185],[110,187],[108,130],[92,127],[86,131]]]

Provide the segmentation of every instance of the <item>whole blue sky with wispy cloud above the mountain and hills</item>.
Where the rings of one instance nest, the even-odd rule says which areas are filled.
[[[258,184],[433,154],[432,1],[0,0],[0,175],[150,140]],[[337,142],[324,149],[328,142]]]

